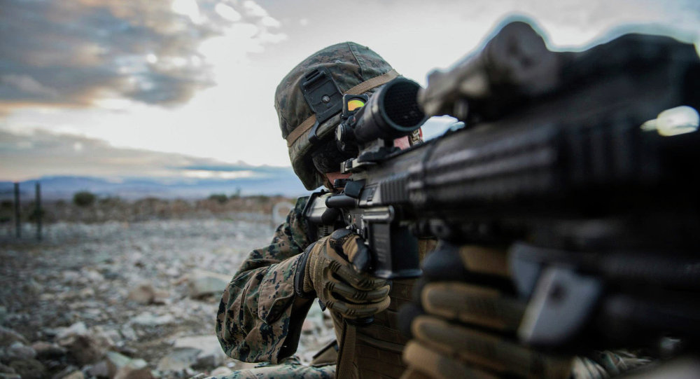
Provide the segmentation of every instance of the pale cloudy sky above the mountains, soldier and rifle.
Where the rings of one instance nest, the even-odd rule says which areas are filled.
[[[288,166],[273,96],[305,57],[356,41],[425,84],[514,15],[557,49],[700,41],[696,0],[0,0],[0,180]]]

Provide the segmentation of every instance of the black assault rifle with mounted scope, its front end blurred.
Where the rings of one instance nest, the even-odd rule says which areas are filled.
[[[514,22],[425,90],[400,78],[345,111],[351,177],[306,214],[361,235],[384,278],[420,275],[416,237],[442,240],[446,262],[460,244],[508,247],[532,345],[697,338],[699,88],[690,44],[627,34],[553,52]],[[393,146],[442,114],[463,128]]]

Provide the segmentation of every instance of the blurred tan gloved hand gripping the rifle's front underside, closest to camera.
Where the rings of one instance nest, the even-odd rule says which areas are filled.
[[[525,303],[508,276],[501,249],[443,246],[430,254],[416,305],[400,315],[412,335],[403,378],[567,378],[572,357],[518,342]]]

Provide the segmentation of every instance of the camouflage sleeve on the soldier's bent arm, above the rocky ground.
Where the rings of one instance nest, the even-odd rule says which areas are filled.
[[[302,216],[307,200],[297,200],[269,246],[253,250],[223,291],[216,335],[232,358],[277,364],[296,351],[311,305],[292,312],[294,274],[309,244]]]

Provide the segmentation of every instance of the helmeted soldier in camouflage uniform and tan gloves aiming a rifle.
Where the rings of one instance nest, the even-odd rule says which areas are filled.
[[[371,95],[398,76],[374,51],[346,42],[319,50],[283,78],[276,89],[275,109],[293,169],[309,190],[323,185],[333,190],[334,180],[344,177],[339,173],[339,165],[346,158],[332,137],[339,124],[339,112],[324,114],[318,111],[323,105],[312,108],[300,87],[302,81],[321,71],[330,75],[339,92],[352,95]],[[330,100],[324,96],[320,102]],[[396,145],[419,141],[404,139]],[[490,280],[446,287],[439,283],[446,279],[440,273],[430,273],[428,268],[428,284],[421,287],[423,294],[428,294],[422,297],[428,301],[423,302],[427,315],[413,323],[415,339],[404,354],[411,368],[406,371],[402,352],[407,337],[398,328],[398,308],[409,303],[414,280],[394,280],[390,285],[357,270],[360,262],[367,261],[367,249],[360,237],[348,230],[336,230],[314,241],[303,216],[307,200],[297,200],[286,222],[276,229],[271,244],[249,254],[223,293],[216,319],[216,333],[223,350],[235,359],[265,365],[237,371],[228,375],[229,379],[400,378],[402,374],[405,378],[493,378],[498,374],[562,378],[572,369],[577,378],[596,378],[608,375],[606,371],[621,371],[619,367],[625,363],[636,364],[615,355],[610,356],[610,369],[604,369],[590,359],[549,357],[517,343],[501,344],[488,333],[473,333],[461,324],[447,324],[445,320],[451,318],[446,316],[464,312],[464,307],[456,301],[445,303],[444,299],[491,294],[497,288]],[[419,246],[421,260],[434,247],[432,240],[421,240]],[[486,273],[505,270],[503,261],[479,258],[484,256],[483,248],[466,249],[467,256],[475,256],[477,266],[486,269]],[[499,254],[488,251],[486,256]],[[468,268],[466,261],[455,264]],[[315,298],[330,309],[338,348],[336,353],[330,347],[312,366],[304,366],[293,354],[302,322]],[[433,300],[436,305],[430,305]],[[513,316],[512,312],[500,312],[505,309],[493,310],[496,313],[488,317],[479,312],[461,315],[468,321],[481,317],[479,321],[486,326]],[[354,325],[353,321],[368,316],[374,317],[372,324]],[[483,354],[470,354],[470,349],[481,347]]]

